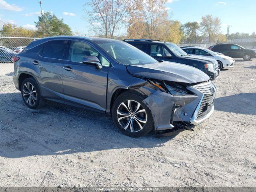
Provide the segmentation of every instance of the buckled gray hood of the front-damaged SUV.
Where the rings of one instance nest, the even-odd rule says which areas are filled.
[[[160,62],[144,65],[126,65],[134,76],[182,83],[208,81],[209,76],[197,68],[174,62]]]

